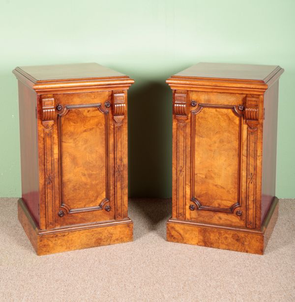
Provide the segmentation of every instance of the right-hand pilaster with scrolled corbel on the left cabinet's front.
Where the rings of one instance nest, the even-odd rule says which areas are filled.
[[[115,144],[115,219],[122,219],[123,213],[123,154],[122,154],[122,122],[126,104],[123,91],[113,91],[113,118]]]

